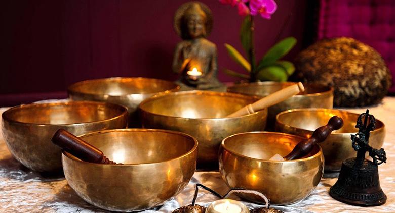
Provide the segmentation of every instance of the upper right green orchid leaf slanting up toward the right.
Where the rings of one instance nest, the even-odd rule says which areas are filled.
[[[259,61],[257,70],[272,65],[274,62],[287,55],[295,44],[296,38],[294,37],[287,37],[277,44],[274,44]]]

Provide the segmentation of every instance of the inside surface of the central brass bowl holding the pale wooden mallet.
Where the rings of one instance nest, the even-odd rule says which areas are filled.
[[[145,101],[140,105],[140,108],[149,113],[172,117],[223,118],[256,101],[253,97],[227,93],[174,94],[158,96]]]

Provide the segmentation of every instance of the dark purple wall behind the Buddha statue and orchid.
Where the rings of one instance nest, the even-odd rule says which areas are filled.
[[[0,2],[0,106],[66,96],[71,83],[104,77],[176,79],[171,72],[175,44],[173,15],[182,0],[63,0]],[[223,43],[242,50],[237,10],[202,0],[213,11],[209,40],[217,44],[219,79],[234,81],[222,68],[241,70]],[[307,3],[276,0],[271,20],[256,18],[257,57],[287,36],[302,48]]]

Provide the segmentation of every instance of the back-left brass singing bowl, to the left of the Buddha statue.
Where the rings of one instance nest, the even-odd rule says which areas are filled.
[[[170,81],[152,78],[103,78],[81,81],[67,88],[72,100],[117,103],[128,108],[129,126],[139,127],[138,105],[159,92],[174,92],[180,87]]]

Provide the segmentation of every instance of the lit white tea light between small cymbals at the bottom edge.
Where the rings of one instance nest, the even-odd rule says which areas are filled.
[[[212,202],[206,209],[206,213],[249,213],[250,210],[242,202],[230,199]]]

